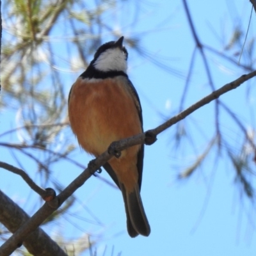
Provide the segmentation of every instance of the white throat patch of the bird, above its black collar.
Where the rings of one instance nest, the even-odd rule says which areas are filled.
[[[127,61],[125,60],[124,52],[119,48],[108,49],[102,52],[93,64],[100,71],[127,71]]]

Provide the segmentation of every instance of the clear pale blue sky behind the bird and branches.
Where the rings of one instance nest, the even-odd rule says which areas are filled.
[[[112,21],[116,30],[122,31],[126,37],[141,36],[140,43],[143,49],[150,51],[158,58],[157,60],[163,61],[169,67],[181,70],[186,76],[195,42],[182,1],[141,1],[138,21],[132,27],[124,25],[125,22],[129,23],[130,15],[136,13],[136,8],[131,8],[131,4],[126,3],[122,8],[121,6],[117,8],[116,19],[120,19],[121,22],[114,24],[115,22]],[[223,51],[221,40],[228,42],[236,24],[242,20],[244,29],[248,25],[251,11],[249,1],[236,0],[230,3],[220,0],[198,0],[196,4],[195,1],[188,1],[188,4],[200,40],[219,51]],[[113,20],[115,21],[115,17]],[[255,21],[255,13],[253,13],[249,38],[254,36]],[[147,31],[151,32],[144,33]],[[106,36],[106,42],[113,39],[115,38]],[[140,95],[144,129],[151,129],[161,124],[164,118],[177,113],[185,79],[173,76],[170,72],[156,67],[152,61],[138,57],[138,54],[129,47],[127,50],[129,77]],[[236,65],[210,52],[207,52],[207,59],[216,88],[245,73]],[[83,70],[79,70],[77,74],[67,75],[67,84],[64,85],[67,93],[72,81],[81,71]],[[249,108],[255,110],[255,88],[252,88],[249,96],[246,95],[246,89],[250,86],[253,86],[253,83],[243,84],[241,88],[221,97],[228,106],[232,106],[237,116],[243,118],[246,128],[253,125],[255,127],[248,112]],[[184,106],[190,106],[210,92],[202,58],[197,54]],[[15,127],[15,112],[5,111],[1,115],[4,119],[1,122],[0,134],[10,127]],[[179,172],[195,161],[195,154],[202,153],[207,147],[207,141],[211,140],[214,134],[214,104],[208,104],[196,111],[186,118],[184,124],[191,135],[194,147],[190,146],[189,140],[183,140],[180,147],[175,148],[173,139],[175,126],[173,126],[160,134],[154,145],[145,148],[141,196],[152,230],[149,237],[139,236],[131,239],[128,236],[120,191],[95,177],[76,191],[79,202],[77,201],[72,209],[73,216],[66,214],[65,221],[59,221],[58,225],[51,225],[45,230],[52,237],[61,233],[74,238],[79,237],[83,232],[92,232],[91,241],[99,241],[93,247],[97,250],[97,255],[103,255],[106,246],[105,255],[111,255],[112,250],[114,250],[113,255],[122,252],[123,256],[255,255],[256,242],[253,229],[255,221],[250,220],[253,217],[253,209],[241,198],[239,189],[234,183],[232,164],[227,161],[224,153],[220,153],[220,158],[216,162],[215,147],[214,154],[207,157],[190,179],[177,180]],[[195,124],[201,127],[200,132],[195,129]],[[242,138],[234,123],[222,113],[220,127],[230,145],[236,150],[237,143],[241,142]],[[70,131],[67,136],[75,141]],[[72,157],[83,164],[87,164],[91,159],[79,147]],[[0,159],[15,165],[8,150],[1,153]],[[40,176],[35,174],[35,170],[33,172],[35,168],[33,164],[24,162],[24,166],[32,177],[40,179]],[[60,163],[56,164],[53,175],[56,180],[67,186],[80,172],[81,169],[77,167]],[[4,177],[0,179],[0,188],[20,205],[24,205],[28,212],[35,212],[41,204],[38,196],[33,195],[34,193],[29,191],[19,177],[4,170],[0,170],[0,175]],[[109,179],[106,173],[100,175]],[[84,209],[83,205],[93,212],[93,216]],[[79,220],[74,214],[90,222]],[[95,222],[98,224],[96,225]],[[99,222],[102,225],[99,225]],[[76,227],[72,223],[76,223]],[[89,253],[86,252],[84,255]]]

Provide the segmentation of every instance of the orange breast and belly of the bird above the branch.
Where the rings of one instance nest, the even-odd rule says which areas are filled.
[[[94,156],[107,150],[111,142],[142,132],[134,99],[124,83],[121,76],[90,80],[79,77],[72,86],[70,125],[79,144]],[[140,147],[135,148],[138,152]]]

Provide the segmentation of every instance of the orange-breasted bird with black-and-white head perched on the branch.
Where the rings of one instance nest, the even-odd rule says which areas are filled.
[[[113,141],[143,132],[140,99],[127,76],[124,36],[99,47],[68,95],[70,127],[79,145],[99,157]],[[122,191],[129,236],[149,236],[140,190],[144,145],[135,145],[103,165]]]

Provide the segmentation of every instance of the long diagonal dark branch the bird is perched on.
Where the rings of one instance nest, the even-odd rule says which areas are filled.
[[[218,99],[220,95],[227,93],[230,90],[237,88],[239,85],[256,76],[256,71],[251,72],[250,74],[243,75],[236,79],[235,81],[225,84],[225,86],[220,89],[212,92],[208,96],[204,97],[202,100],[199,100],[188,109],[180,112],[178,115],[173,116],[170,120],[164,122],[164,124],[159,125],[156,129],[152,129],[147,132],[143,132],[136,136],[132,136],[131,138],[126,138],[124,140],[115,141],[113,143],[115,150],[113,150],[113,145],[111,145],[111,150],[107,150],[102,155],[93,160],[92,164],[89,164],[89,168],[86,168],[83,173],[81,173],[73,182],[71,182],[67,188],[65,188],[60,195],[56,196],[52,201],[46,202],[26,223],[24,223],[15,234],[13,234],[10,239],[8,239],[1,247],[0,247],[0,256],[2,255],[10,255],[16,248],[17,244],[23,243],[26,237],[33,232],[36,227],[38,227],[46,218],[48,218],[52,212],[56,211],[58,207],[67,200],[67,198],[76,191],[77,188],[81,187],[84,182],[90,178],[92,173],[99,170],[100,166],[106,163],[111,157],[113,157],[109,152],[120,152],[125,148],[132,147],[134,145],[140,145],[145,143],[148,140],[148,134],[154,138],[157,134],[163,132],[164,130],[171,127],[173,124],[176,124],[180,120],[184,119],[186,116],[190,115],[196,109],[201,108],[205,104],[208,104],[212,100]]]

